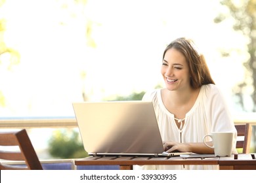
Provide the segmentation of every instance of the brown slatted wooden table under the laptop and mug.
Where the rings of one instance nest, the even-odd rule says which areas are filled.
[[[154,157],[99,157],[90,156],[75,160],[75,165],[119,165],[122,170],[131,170],[133,165],[219,165],[220,169],[256,169],[255,154],[238,154],[214,158]]]

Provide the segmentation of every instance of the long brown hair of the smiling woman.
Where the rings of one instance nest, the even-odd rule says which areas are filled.
[[[190,71],[190,84],[192,88],[200,88],[203,84],[215,84],[211,78],[204,56],[198,52],[196,45],[191,39],[185,37],[175,39],[165,48],[163,58],[167,50],[171,48],[175,48],[186,58]]]

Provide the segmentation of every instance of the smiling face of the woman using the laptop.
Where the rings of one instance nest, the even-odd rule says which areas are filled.
[[[167,90],[185,90],[190,86],[190,72],[186,58],[175,48],[165,52],[161,75],[165,81]]]

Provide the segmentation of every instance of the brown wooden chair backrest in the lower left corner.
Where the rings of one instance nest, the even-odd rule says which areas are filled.
[[[26,129],[15,132],[0,132],[0,146],[18,146],[20,149],[18,152],[16,150],[0,150],[1,170],[43,169]],[[25,161],[27,166],[9,165],[5,163],[5,160]]]

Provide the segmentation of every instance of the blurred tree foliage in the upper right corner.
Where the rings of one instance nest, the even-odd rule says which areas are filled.
[[[234,20],[233,29],[241,32],[248,42],[249,59],[244,62],[247,74],[245,74],[244,81],[234,87],[233,92],[238,97],[238,103],[240,103],[243,110],[246,110],[244,91],[252,86],[252,112],[256,112],[256,0],[222,0],[220,3],[226,9],[215,18],[215,23],[219,24],[232,18]],[[229,56],[229,53],[223,54],[223,56]]]

